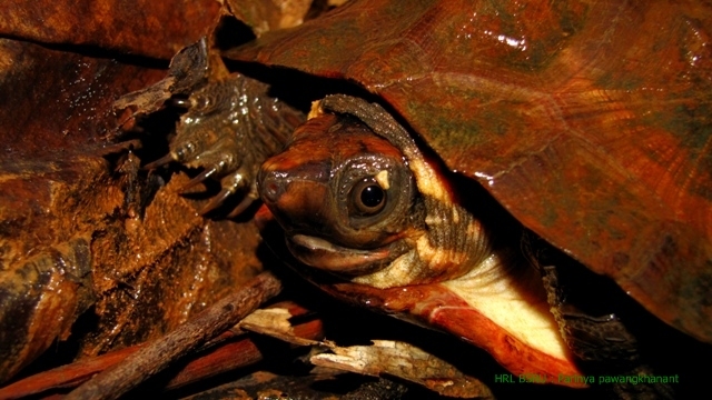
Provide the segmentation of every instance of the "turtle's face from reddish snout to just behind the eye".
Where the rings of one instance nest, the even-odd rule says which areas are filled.
[[[264,163],[259,187],[295,257],[333,272],[383,269],[424,218],[400,152],[352,117],[323,114],[299,127]]]

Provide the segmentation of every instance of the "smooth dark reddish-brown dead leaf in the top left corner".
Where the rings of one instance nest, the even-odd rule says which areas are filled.
[[[0,34],[168,59],[208,33],[214,0],[32,1],[0,3]]]

